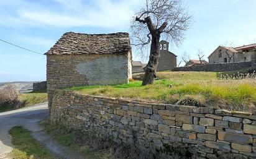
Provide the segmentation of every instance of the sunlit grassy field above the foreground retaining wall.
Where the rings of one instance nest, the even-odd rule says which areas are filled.
[[[135,76],[141,76],[137,74]],[[235,111],[254,111],[255,78],[218,79],[216,72],[158,72],[153,85],[135,80],[122,85],[66,88],[78,93],[178,105],[211,106]]]

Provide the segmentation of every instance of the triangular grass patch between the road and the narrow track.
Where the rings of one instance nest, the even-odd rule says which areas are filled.
[[[21,126],[13,127],[12,144],[16,147],[11,152],[14,159],[53,159],[54,157],[43,148],[32,136],[31,132]]]

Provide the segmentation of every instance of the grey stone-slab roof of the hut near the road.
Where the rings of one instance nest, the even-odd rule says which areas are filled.
[[[45,54],[126,54],[129,51],[131,52],[129,33],[67,32]]]

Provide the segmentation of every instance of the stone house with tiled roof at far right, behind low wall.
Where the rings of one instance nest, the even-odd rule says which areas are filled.
[[[255,47],[256,43],[236,48],[218,46],[217,49],[208,56],[209,63],[252,61],[252,50]]]

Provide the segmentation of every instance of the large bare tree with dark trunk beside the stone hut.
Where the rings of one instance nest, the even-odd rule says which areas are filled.
[[[132,42],[142,48],[150,44],[149,62],[142,85],[153,84],[160,58],[160,37],[176,44],[184,39],[191,15],[181,0],[145,0],[131,25]]]

